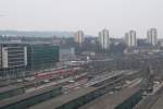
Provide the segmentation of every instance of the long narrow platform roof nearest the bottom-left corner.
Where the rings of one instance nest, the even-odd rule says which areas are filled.
[[[59,87],[59,86],[54,86],[54,87]],[[25,93],[25,94],[22,94],[22,95],[17,95],[17,96],[14,96],[14,97],[11,97],[11,98],[0,100],[0,108],[2,108],[4,106],[8,106],[8,105],[11,105],[11,104],[15,104],[15,102],[21,101],[21,100],[24,100],[28,97],[33,97],[35,95],[40,95],[42,93],[49,92],[49,90],[53,89],[54,87],[53,86],[48,86],[48,87],[43,87],[43,88],[34,90],[34,92],[30,92],[30,93]]]

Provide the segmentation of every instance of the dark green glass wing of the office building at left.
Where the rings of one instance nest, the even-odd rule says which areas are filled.
[[[50,44],[27,45],[27,70],[40,71],[54,68],[59,62],[59,47]]]

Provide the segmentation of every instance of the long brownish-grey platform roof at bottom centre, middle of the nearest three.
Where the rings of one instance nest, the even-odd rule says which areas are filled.
[[[28,109],[54,109],[80,96],[84,96],[95,89],[96,89],[95,87],[84,87],[78,90],[71,92],[68,94],[64,94],[50,100],[43,101],[41,104],[35,105],[33,107],[29,107]]]

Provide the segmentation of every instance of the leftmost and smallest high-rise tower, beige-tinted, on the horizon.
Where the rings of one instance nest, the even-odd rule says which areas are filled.
[[[84,32],[78,31],[75,33],[75,43],[82,45],[84,43]]]

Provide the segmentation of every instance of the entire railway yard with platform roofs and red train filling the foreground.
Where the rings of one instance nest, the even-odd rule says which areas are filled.
[[[143,81],[134,69],[49,70],[1,82],[0,109],[161,109],[162,82],[145,94]]]

